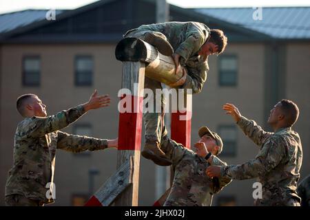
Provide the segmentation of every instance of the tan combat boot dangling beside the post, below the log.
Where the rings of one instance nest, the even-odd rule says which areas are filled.
[[[146,159],[151,159],[155,164],[160,166],[170,166],[172,164],[172,162],[166,157],[165,153],[161,151],[157,142],[145,143],[141,154]]]

